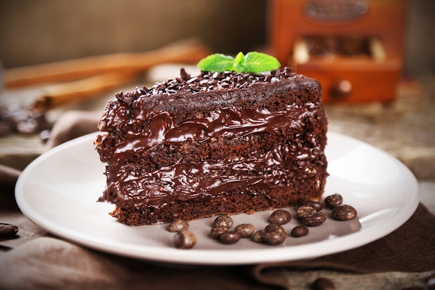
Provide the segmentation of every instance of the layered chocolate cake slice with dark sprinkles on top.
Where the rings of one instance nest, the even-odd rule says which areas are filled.
[[[327,119],[320,83],[288,68],[202,72],[118,93],[95,142],[101,201],[123,223],[167,223],[320,200]]]

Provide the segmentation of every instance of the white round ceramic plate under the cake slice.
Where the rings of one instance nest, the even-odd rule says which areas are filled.
[[[96,202],[105,187],[104,165],[94,150],[95,134],[71,140],[35,159],[19,177],[16,199],[34,223],[51,234],[89,248],[127,257],[174,264],[234,265],[312,259],[356,248],[393,232],[418,206],[418,182],[400,161],[371,145],[329,133],[325,195],[340,193],[358,218],[338,222],[328,218],[308,236],[291,236],[271,246],[242,239],[223,245],[208,237],[214,218],[190,222],[197,245],[179,250],[167,225],[128,226],[108,212],[113,205]],[[288,209],[293,213],[295,209]],[[234,224],[268,224],[270,211],[233,216]],[[330,214],[330,213],[329,213]],[[290,230],[298,224],[293,218]]]

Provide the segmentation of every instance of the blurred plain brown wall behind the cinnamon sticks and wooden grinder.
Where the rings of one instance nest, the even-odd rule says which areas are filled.
[[[381,2],[376,0],[372,2]],[[6,68],[118,51],[147,51],[197,37],[212,51],[267,47],[268,0],[0,1],[0,60]],[[409,0],[404,74],[435,70],[435,2]]]

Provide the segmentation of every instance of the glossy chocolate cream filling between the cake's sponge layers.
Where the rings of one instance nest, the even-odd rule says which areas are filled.
[[[183,141],[213,142],[217,138],[246,138],[258,133],[273,134],[301,127],[306,118],[313,118],[317,109],[311,111],[297,106],[289,106],[286,111],[270,112],[265,109],[255,111],[251,108],[221,108],[207,118],[191,119],[177,126],[170,113],[161,112],[149,123],[149,132],[129,132],[124,143],[120,144],[109,163],[109,179],[106,200],[115,202],[119,207],[138,207],[147,204],[160,207],[176,200],[212,198],[222,191],[256,186],[262,188],[285,182],[290,172],[288,163],[296,159],[299,163],[311,163],[318,156],[319,145],[299,145],[297,155],[290,154],[290,146],[280,145],[270,152],[243,156],[237,160],[197,161],[183,163],[179,159],[172,166],[165,166],[152,172],[135,172],[122,169],[122,160],[156,145],[170,145]],[[312,138],[315,143],[315,138]],[[288,169],[286,169],[288,168]],[[300,166],[303,172],[298,175],[314,175],[309,166]],[[293,168],[294,170],[294,168]],[[266,174],[265,174],[266,172]]]

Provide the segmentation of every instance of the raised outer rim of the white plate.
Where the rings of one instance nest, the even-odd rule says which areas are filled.
[[[19,176],[17,180],[17,184],[15,186],[15,199],[17,201],[19,209],[22,211],[22,213],[29,218],[33,223],[36,223],[38,226],[42,227],[42,229],[46,230],[47,232],[54,234],[55,236],[60,236],[63,239],[66,239],[67,241],[71,241],[72,243],[76,243],[79,245],[83,245],[87,248],[92,248],[94,250],[99,250],[101,252],[107,252],[110,254],[120,255],[124,257],[131,257],[135,259],[142,259],[146,261],[154,261],[154,262],[160,262],[160,263],[168,263],[168,264],[195,264],[195,265],[241,265],[241,264],[258,264],[258,263],[267,263],[267,262],[281,262],[281,261],[296,261],[296,260],[306,260],[306,259],[314,259],[316,257],[321,257],[324,255],[331,255],[337,252],[343,252],[345,250],[350,250],[352,248],[358,248],[361,245],[366,245],[367,243],[370,243],[372,241],[375,241],[377,239],[381,239],[382,237],[390,234],[391,232],[395,231],[398,227],[406,223],[406,221],[412,216],[414,211],[416,211],[418,204],[420,202],[419,198],[419,185],[416,177],[413,175],[411,170],[407,168],[407,166],[404,165],[401,161],[396,159],[391,154],[388,154],[388,152],[384,152],[383,150],[380,150],[379,148],[375,147],[374,145],[370,145],[369,143],[364,142],[363,140],[359,140],[350,136],[346,136],[344,134],[340,134],[334,131],[329,131],[327,133],[328,139],[329,138],[345,138],[347,140],[350,140],[352,143],[361,143],[362,145],[368,146],[370,150],[375,150],[376,152],[379,152],[383,154],[384,156],[387,156],[388,159],[391,159],[394,163],[397,164],[397,166],[400,167],[402,172],[406,172],[407,175],[409,175],[410,179],[409,181],[412,182],[411,187],[413,188],[413,195],[410,196],[411,200],[408,204],[406,204],[405,212],[406,215],[401,215],[397,217],[397,213],[393,214],[391,216],[391,219],[395,219],[393,226],[391,226],[391,223],[381,223],[381,225],[378,225],[377,227],[372,227],[368,229],[364,234],[361,234],[361,231],[355,232],[352,234],[348,234],[346,236],[340,236],[335,239],[329,239],[329,240],[323,240],[318,242],[313,242],[309,244],[302,244],[302,245],[292,245],[291,247],[285,247],[285,248],[267,248],[267,249],[249,249],[249,250],[243,250],[243,254],[246,254],[243,259],[240,260],[228,260],[227,255],[225,253],[222,253],[222,250],[202,250],[202,249],[191,249],[191,250],[179,250],[175,248],[162,248],[162,247],[152,247],[147,246],[145,248],[148,248],[147,250],[140,251],[140,252],[130,252],[126,250],[125,248],[114,248],[111,243],[103,243],[101,241],[98,241],[96,243],[95,239],[90,238],[89,236],[79,233],[79,232],[68,232],[64,230],[59,230],[58,225],[56,225],[55,222],[49,221],[44,222],[43,216],[38,216],[38,213],[29,207],[29,204],[26,204],[26,201],[24,200],[24,184],[26,182],[26,179],[28,178],[28,175],[31,174],[33,168],[35,166],[38,166],[40,162],[42,162],[44,159],[49,158],[49,156],[57,154],[58,152],[61,152],[69,147],[74,147],[75,145],[79,143],[83,143],[87,140],[95,140],[95,136],[101,132],[93,132],[91,134],[86,134],[84,136],[80,136],[78,138],[74,138],[73,140],[69,140],[66,143],[60,144],[51,150],[48,150],[47,152],[42,153],[40,156],[38,156],[35,160],[33,160],[24,170],[22,171],[22,174]],[[402,208],[401,208],[402,209]],[[42,221],[41,221],[42,220]],[[387,227],[387,225],[390,225]],[[379,234],[379,228],[384,229],[382,234]],[[377,229],[377,234],[372,236],[372,232],[375,232],[375,229]],[[359,234],[360,233],[360,234]],[[371,233],[371,234],[370,234]],[[358,241],[356,243],[352,243],[352,245],[344,245],[343,248],[334,248],[334,250],[328,250],[325,252],[325,250],[322,250],[322,248],[327,248],[331,243],[334,245],[336,243],[336,239],[339,239],[340,241],[348,241],[350,239],[354,239],[355,237],[358,237]],[[316,245],[320,246],[316,247]],[[124,245],[126,246],[126,245]],[[304,249],[308,249],[304,251],[299,251],[295,254],[293,257],[288,257],[288,255],[283,255],[286,252],[286,249],[291,248],[290,252],[295,252],[293,249],[300,249],[303,247]],[[150,257],[149,253],[152,252],[153,255]],[[192,255],[192,252],[197,255]],[[229,250],[228,252],[231,252]],[[160,256],[158,256],[160,255]],[[157,257],[158,256],[158,257]],[[176,257],[174,257],[176,256]],[[208,259],[204,259],[204,256],[208,257]]]

